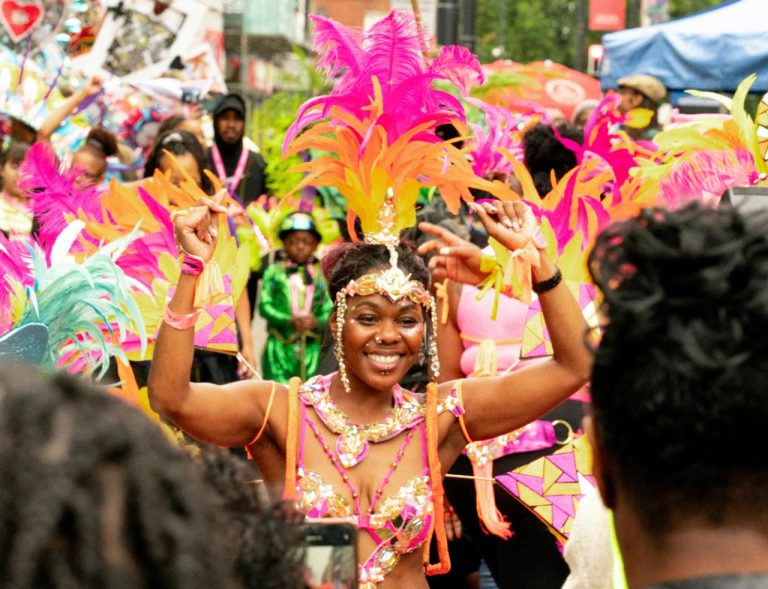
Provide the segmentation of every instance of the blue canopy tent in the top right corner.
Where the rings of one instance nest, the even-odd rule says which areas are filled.
[[[733,91],[756,73],[752,92],[768,91],[768,0],[731,0],[678,20],[609,33],[600,82],[616,88],[643,73],[672,91]]]

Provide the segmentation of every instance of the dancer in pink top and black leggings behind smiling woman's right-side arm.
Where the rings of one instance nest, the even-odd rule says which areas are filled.
[[[443,227],[421,223],[419,228],[437,238],[419,248],[422,254],[447,247],[455,255],[480,255],[479,248]],[[433,276],[436,281],[442,278],[442,273]],[[451,280],[441,293],[441,380],[496,376],[542,361],[521,360],[528,304],[507,294],[495,301],[490,293],[483,296],[477,287]],[[498,310],[492,319],[494,305]],[[555,425],[577,430],[583,406],[581,397],[568,399],[521,430],[475,441],[451,468],[458,477],[446,481],[447,498],[462,534],[477,547],[499,587],[559,589],[568,576],[555,537],[532,511],[492,481],[556,450]],[[559,428],[557,433],[565,437]]]

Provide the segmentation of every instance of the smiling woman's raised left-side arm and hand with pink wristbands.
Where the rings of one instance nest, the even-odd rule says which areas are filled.
[[[184,251],[210,260],[216,247],[215,213],[223,212],[219,193],[213,201],[181,211],[174,220]],[[271,382],[242,381],[226,385],[190,383],[194,353],[193,301],[198,276],[182,273],[168,304],[171,326],[163,321],[149,374],[152,408],[193,437],[221,446],[251,442],[264,419]],[[174,319],[175,318],[175,319]],[[281,388],[280,385],[276,385]],[[278,391],[280,392],[280,391]]]

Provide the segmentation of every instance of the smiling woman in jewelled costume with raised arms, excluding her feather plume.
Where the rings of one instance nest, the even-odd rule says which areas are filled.
[[[439,373],[429,273],[413,250],[380,232],[384,239],[327,254],[337,373],[298,391],[297,382],[190,383],[197,277],[216,245],[212,211],[224,209],[206,200],[174,221],[184,263],[155,348],[153,407],[200,440],[246,446],[273,496],[295,498],[312,517],[353,518],[361,586],[425,587],[416,551],[442,527],[440,472],[467,441],[523,426],[586,379],[583,319],[559,271],[536,250],[533,278],[555,347],[551,359],[506,376],[432,383],[424,403],[398,382],[425,348],[433,378]],[[533,247],[536,222],[523,203],[477,211],[506,247]],[[431,264],[445,262],[437,256]]]

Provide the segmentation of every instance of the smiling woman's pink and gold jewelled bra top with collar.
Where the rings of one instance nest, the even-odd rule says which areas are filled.
[[[433,505],[427,463],[425,405],[410,392],[396,386],[393,391],[394,407],[388,418],[371,424],[355,425],[348,421],[330,397],[329,389],[333,376],[316,376],[299,389],[301,408],[296,498],[299,508],[308,517],[353,518],[357,520],[358,529],[371,535],[376,542],[376,548],[359,566],[361,589],[371,589],[384,580],[403,555],[413,552],[424,543],[432,526]],[[326,442],[316,422],[308,418],[309,408],[314,410],[331,432],[339,434],[333,448]],[[445,411],[450,411],[457,417],[464,413],[456,390],[452,390],[450,395],[439,403],[438,414]],[[346,493],[337,492],[319,473],[304,465],[303,450],[307,429],[339,472],[347,488]],[[376,488],[370,508],[361,512],[358,491],[349,481],[347,470],[365,459],[370,443],[390,440],[402,433],[405,433],[403,442],[382,482]],[[421,474],[411,478],[394,494],[382,497],[414,435],[421,438]]]

